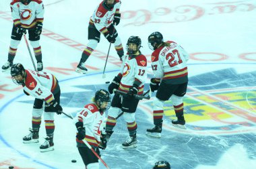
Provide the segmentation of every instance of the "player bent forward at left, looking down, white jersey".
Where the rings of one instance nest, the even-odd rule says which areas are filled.
[[[41,124],[42,113],[44,113],[44,122],[46,129],[46,140],[40,146],[41,152],[47,152],[53,149],[53,133],[55,130],[54,115],[62,113],[60,103],[61,89],[59,82],[53,74],[48,72],[37,72],[34,70],[25,70],[22,64],[13,64],[11,66],[11,78],[15,84],[22,85],[24,93],[35,97],[32,110],[32,129],[30,133],[23,137],[23,142],[38,143],[38,132]],[[43,105],[45,105],[43,107]],[[55,113],[54,113],[55,112]]]

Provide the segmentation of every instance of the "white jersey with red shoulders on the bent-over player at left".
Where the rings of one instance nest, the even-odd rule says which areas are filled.
[[[53,91],[57,88],[57,79],[48,72],[25,70],[24,91],[37,99],[44,99],[46,103],[54,100]]]

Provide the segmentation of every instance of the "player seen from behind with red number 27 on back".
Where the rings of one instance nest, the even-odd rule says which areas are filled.
[[[172,125],[185,129],[183,97],[187,91],[189,54],[175,42],[164,42],[160,32],[154,32],[148,37],[148,46],[154,50],[151,61],[155,77],[151,78],[150,88],[157,93],[153,107],[155,127],[147,129],[146,135],[161,137],[163,106],[168,99],[172,100],[178,118],[172,120]]]

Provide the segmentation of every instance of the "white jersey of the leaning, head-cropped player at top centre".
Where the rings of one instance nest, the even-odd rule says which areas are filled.
[[[96,29],[102,34],[108,32],[108,27],[113,23],[115,13],[119,13],[121,6],[120,0],[115,0],[113,9],[108,11],[104,5],[104,1],[96,7],[92,17],[90,18],[90,25],[95,25]]]

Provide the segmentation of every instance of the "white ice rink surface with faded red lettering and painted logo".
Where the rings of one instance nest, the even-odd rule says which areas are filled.
[[[106,78],[102,78],[109,46],[102,37],[88,59],[89,73],[77,74],[75,67],[88,42],[88,21],[100,0],[43,2],[40,45],[44,70],[59,79],[63,111],[74,116],[90,103],[96,90],[107,89],[105,82],[117,75],[121,62],[111,46]],[[7,61],[13,24],[9,3],[0,1],[1,66]],[[152,32],[161,32],[164,40],[177,42],[189,52],[189,87],[184,98],[187,130],[170,125],[175,115],[167,101],[162,137],[145,135],[153,126],[153,93],[152,99],[139,103],[136,112],[138,147],[121,148],[128,135],[121,117],[106,150],[101,151],[106,164],[111,169],[149,169],[154,162],[166,160],[174,169],[256,168],[256,1],[123,0],[121,13],[117,32],[124,48],[129,36],[141,38],[141,52],[148,58],[148,82],[152,51],[147,40]],[[33,69],[24,39],[14,62]],[[55,115],[54,151],[39,151],[46,135],[44,121],[40,143],[22,143],[31,127],[33,101],[12,82],[9,72],[0,72],[0,169],[84,168],[76,148],[75,126],[65,115]],[[100,163],[100,168],[105,167]]]

